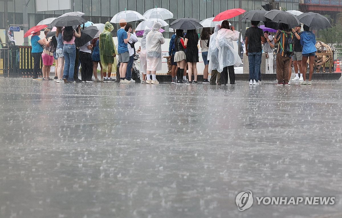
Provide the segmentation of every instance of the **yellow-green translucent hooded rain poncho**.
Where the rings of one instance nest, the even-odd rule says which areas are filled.
[[[100,60],[102,67],[107,70],[108,66],[113,65],[111,72],[116,72],[117,60],[113,55],[118,55],[118,51],[116,50],[113,36],[111,35],[111,31],[114,30],[113,25],[109,22],[106,22],[105,29],[100,34],[99,38],[99,47],[100,47]]]

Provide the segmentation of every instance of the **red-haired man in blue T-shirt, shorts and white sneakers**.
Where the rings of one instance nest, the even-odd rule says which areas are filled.
[[[127,22],[124,19],[119,21],[120,29],[117,31],[118,36],[118,54],[120,62],[120,83],[131,83],[126,79],[127,63],[129,62],[129,51],[127,47],[128,40],[131,36],[130,32],[125,31]]]

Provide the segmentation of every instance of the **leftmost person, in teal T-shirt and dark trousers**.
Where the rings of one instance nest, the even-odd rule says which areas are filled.
[[[40,66],[40,59],[43,53],[43,45],[46,46],[48,42],[39,38],[40,31],[33,33],[31,36],[31,55],[33,57],[33,80],[42,80],[38,78],[38,70]]]

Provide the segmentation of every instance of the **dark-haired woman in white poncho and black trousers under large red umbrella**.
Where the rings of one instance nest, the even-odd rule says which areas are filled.
[[[224,85],[228,83],[228,71],[230,84],[236,85],[234,65],[238,67],[242,61],[239,53],[234,50],[233,41],[239,39],[239,34],[238,31],[234,30],[234,27],[231,30],[228,21],[223,21],[216,36],[216,46],[219,49],[218,71],[221,73],[221,82]]]

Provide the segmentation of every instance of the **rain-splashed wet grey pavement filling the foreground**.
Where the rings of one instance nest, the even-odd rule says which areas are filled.
[[[342,82],[0,78],[1,218],[342,217]],[[257,205],[253,196],[334,196]]]

